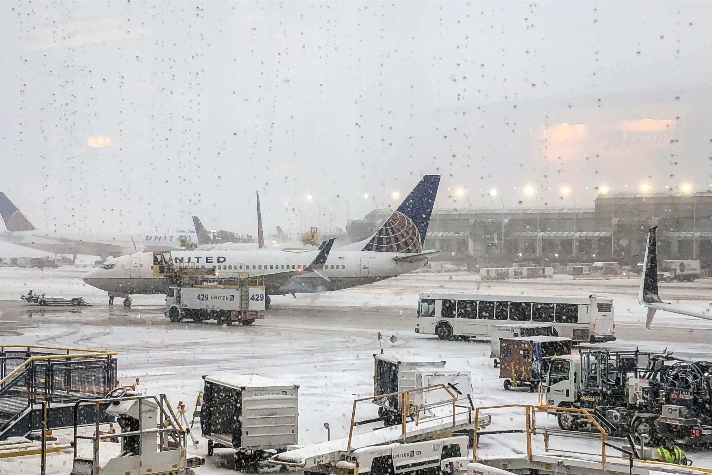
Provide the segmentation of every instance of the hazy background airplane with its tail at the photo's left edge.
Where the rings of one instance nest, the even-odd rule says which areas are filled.
[[[142,235],[75,235],[61,234],[36,229],[25,215],[0,193],[0,215],[5,222],[6,232],[0,233],[0,240],[55,254],[85,254],[101,257],[117,257],[138,250],[178,250],[192,249],[197,241],[192,232],[148,233]]]

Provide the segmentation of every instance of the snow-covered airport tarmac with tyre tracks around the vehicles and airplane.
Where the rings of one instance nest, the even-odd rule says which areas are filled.
[[[473,374],[475,404],[535,403],[536,394],[505,392],[489,358],[489,344],[441,342],[414,333],[417,294],[424,290],[458,290],[522,295],[610,295],[615,300],[617,334],[622,344],[669,349],[678,354],[712,359],[712,322],[659,312],[654,330],[643,327],[645,311],[637,305],[637,280],[553,280],[481,282],[465,272],[412,274],[321,295],[273,297],[273,308],[251,327],[219,327],[213,323],[172,324],[163,315],[161,296],[137,296],[134,307],[108,307],[104,292],[81,281],[84,269],[57,270],[0,268],[0,342],[97,347],[119,352],[122,382],[140,378],[151,394],[167,394],[173,404],[184,401],[192,412],[201,376],[219,372],[257,373],[300,384],[301,444],[326,439],[324,422],[332,438],[347,435],[352,399],[373,392],[372,354],[417,354],[444,359],[447,367]],[[19,302],[27,290],[47,295],[81,295],[94,307],[83,309],[28,307]],[[664,284],[668,300],[689,301],[691,307],[709,307],[712,282]],[[14,302],[12,302],[14,301]],[[382,342],[377,334],[384,335]],[[392,344],[391,335],[397,337]],[[522,427],[523,411],[493,414],[498,428]],[[359,409],[360,417],[375,415],[373,404]],[[540,416],[543,419],[546,417]],[[555,426],[555,420],[544,421]],[[362,427],[361,430],[370,430]],[[541,441],[538,441],[540,446]],[[553,446],[595,452],[597,444],[580,439],[554,438]],[[104,445],[104,444],[103,444]],[[107,444],[109,445],[109,444]],[[194,454],[205,454],[204,439]],[[523,436],[483,437],[481,454],[521,454]],[[692,454],[697,465],[712,466],[711,454]],[[0,459],[0,474],[34,474],[32,457]],[[71,454],[48,457],[49,474],[68,474]],[[230,451],[216,451],[201,474],[234,473]],[[32,468],[32,469],[30,469]]]

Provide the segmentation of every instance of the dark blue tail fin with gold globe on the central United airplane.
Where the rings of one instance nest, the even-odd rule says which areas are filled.
[[[422,252],[439,185],[440,175],[425,175],[379,230],[357,245],[365,251]]]

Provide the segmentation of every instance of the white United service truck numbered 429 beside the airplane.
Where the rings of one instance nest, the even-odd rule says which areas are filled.
[[[263,285],[187,287],[172,285],[166,292],[165,315],[172,322],[217,320],[219,324],[252,325],[265,313]]]

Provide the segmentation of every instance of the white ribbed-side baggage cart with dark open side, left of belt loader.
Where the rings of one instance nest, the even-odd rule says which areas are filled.
[[[257,374],[204,376],[200,427],[208,455],[216,448],[235,449],[237,469],[297,443],[299,385]]]

